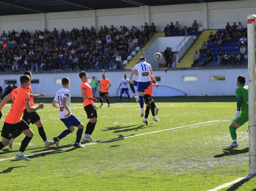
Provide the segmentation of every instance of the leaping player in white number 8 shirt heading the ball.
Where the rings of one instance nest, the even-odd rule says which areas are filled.
[[[145,89],[148,88],[148,86],[150,85],[150,76],[152,75],[152,68],[151,65],[148,64],[146,62],[146,59],[144,57],[141,57],[139,59],[140,63],[135,65],[133,68],[133,71],[131,72],[130,75],[130,80],[129,80],[129,84],[131,84],[131,79],[133,77],[133,74],[138,71],[139,74],[139,82],[138,82],[138,93],[139,93],[139,104],[140,104],[140,108],[141,108],[141,114],[140,116],[143,117],[145,114],[144,111],[144,92]],[[136,84],[134,84],[136,85]]]

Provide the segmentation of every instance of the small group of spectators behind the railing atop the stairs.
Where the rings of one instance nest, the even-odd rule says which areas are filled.
[[[187,36],[189,35],[189,31],[197,31],[198,30],[198,23],[196,20],[194,20],[194,23],[192,24],[192,27],[187,27],[187,26],[184,26],[184,28],[180,28],[180,24],[178,21],[176,21],[176,24],[173,25],[173,22],[166,25],[166,27],[164,27],[164,35],[166,37],[168,36],[176,36],[176,35],[179,35],[179,36]],[[179,33],[177,33],[179,32]],[[194,34],[194,33],[193,33]]]

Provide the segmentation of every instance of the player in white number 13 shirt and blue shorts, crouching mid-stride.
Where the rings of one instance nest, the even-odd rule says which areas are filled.
[[[62,78],[62,88],[56,93],[55,98],[52,102],[52,106],[60,110],[60,119],[65,124],[67,129],[65,129],[58,137],[54,137],[53,141],[59,147],[59,142],[62,138],[66,137],[68,134],[78,128],[76,132],[76,142],[74,147],[82,148],[83,145],[80,144],[83,135],[83,124],[79,119],[77,119],[70,111],[70,91],[68,90],[70,86],[70,81],[67,77]],[[57,104],[59,103],[59,105]]]

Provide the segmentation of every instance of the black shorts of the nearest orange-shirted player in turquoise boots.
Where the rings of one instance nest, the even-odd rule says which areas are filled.
[[[3,138],[11,140],[12,135],[15,133],[16,130],[17,132],[22,132],[27,129],[29,129],[29,125],[23,119],[19,123],[15,123],[15,124],[4,122],[1,136]]]

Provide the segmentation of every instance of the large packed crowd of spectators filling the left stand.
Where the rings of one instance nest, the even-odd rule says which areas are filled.
[[[143,47],[152,33],[155,33],[152,23],[141,26],[140,29],[132,26],[129,30],[126,26],[119,29],[111,25],[111,28],[100,27],[96,32],[92,26],[90,29],[73,28],[71,31],[35,30],[30,34],[27,30],[6,33],[2,32],[0,40],[0,70],[19,71],[26,68],[38,71],[42,67],[45,71],[59,71],[63,66],[67,70],[73,70],[75,66],[82,69],[94,69],[95,65],[101,69],[119,68],[119,64],[135,50]],[[30,67],[30,68],[29,68]]]

